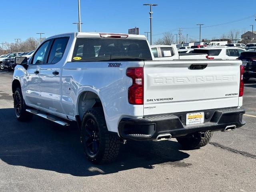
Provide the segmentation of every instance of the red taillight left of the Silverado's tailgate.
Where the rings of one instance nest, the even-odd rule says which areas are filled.
[[[143,67],[128,68],[126,75],[132,78],[132,86],[128,88],[128,102],[134,105],[143,104],[144,75]]]

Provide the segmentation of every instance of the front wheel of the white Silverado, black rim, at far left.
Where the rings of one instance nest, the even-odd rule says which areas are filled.
[[[26,112],[26,104],[24,102],[20,87],[16,88],[13,96],[14,100],[14,113],[18,121],[29,121],[32,119],[33,114]],[[17,109],[19,108],[19,110]]]

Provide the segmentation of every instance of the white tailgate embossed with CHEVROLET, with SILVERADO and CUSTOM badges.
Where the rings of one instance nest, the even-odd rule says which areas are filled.
[[[192,64],[207,64],[190,69]],[[240,60],[145,61],[144,115],[238,106]]]

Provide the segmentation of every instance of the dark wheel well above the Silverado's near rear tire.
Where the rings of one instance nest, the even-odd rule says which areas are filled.
[[[92,107],[102,106],[102,102],[98,95],[91,91],[82,92],[78,98],[78,115],[82,120],[84,113]]]

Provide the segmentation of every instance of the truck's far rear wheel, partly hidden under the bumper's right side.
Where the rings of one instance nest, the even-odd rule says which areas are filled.
[[[206,131],[204,137],[200,134],[193,134],[188,137],[176,138],[176,140],[186,149],[196,149],[206,146],[212,138],[212,132]]]

